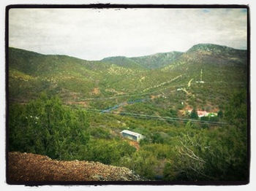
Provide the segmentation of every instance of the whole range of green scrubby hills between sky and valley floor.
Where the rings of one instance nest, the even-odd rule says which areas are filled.
[[[105,109],[115,105],[115,101],[148,98],[159,93],[187,104],[191,104],[190,95],[193,95],[203,106],[203,100],[211,93],[213,98],[207,105],[213,106],[224,103],[230,90],[238,88],[239,83],[246,85],[246,63],[246,50],[217,44],[196,44],[187,52],[110,57],[102,61],[42,55],[10,47],[9,95],[12,101],[26,102],[46,92],[59,95],[67,104],[84,105],[86,101],[86,106]],[[203,81],[208,82],[203,87],[196,84],[201,70]],[[186,87],[189,80],[193,86],[189,87],[187,95],[182,95],[184,98],[181,99],[180,93],[167,92]],[[165,104],[170,105],[170,101]],[[159,108],[166,107],[165,104]],[[122,108],[131,110],[133,107]]]

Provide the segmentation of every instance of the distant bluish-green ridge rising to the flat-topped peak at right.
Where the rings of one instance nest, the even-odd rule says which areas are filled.
[[[246,63],[246,53],[246,50],[236,50],[217,44],[196,44],[187,52],[173,51],[131,58],[116,56],[104,58],[102,61],[132,69],[159,69],[183,61],[220,64]]]

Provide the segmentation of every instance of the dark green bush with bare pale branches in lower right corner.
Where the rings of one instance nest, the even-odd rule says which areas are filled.
[[[227,126],[183,134],[165,165],[165,180],[246,180],[246,143],[238,128]]]

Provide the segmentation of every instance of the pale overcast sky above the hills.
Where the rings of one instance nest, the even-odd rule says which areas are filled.
[[[246,30],[246,9],[10,9],[9,45],[100,60],[198,43],[246,49]]]

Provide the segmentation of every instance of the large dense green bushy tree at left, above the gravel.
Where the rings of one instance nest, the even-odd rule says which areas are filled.
[[[89,141],[86,112],[63,106],[56,96],[42,94],[29,104],[10,105],[9,116],[12,151],[69,160],[79,157]]]

